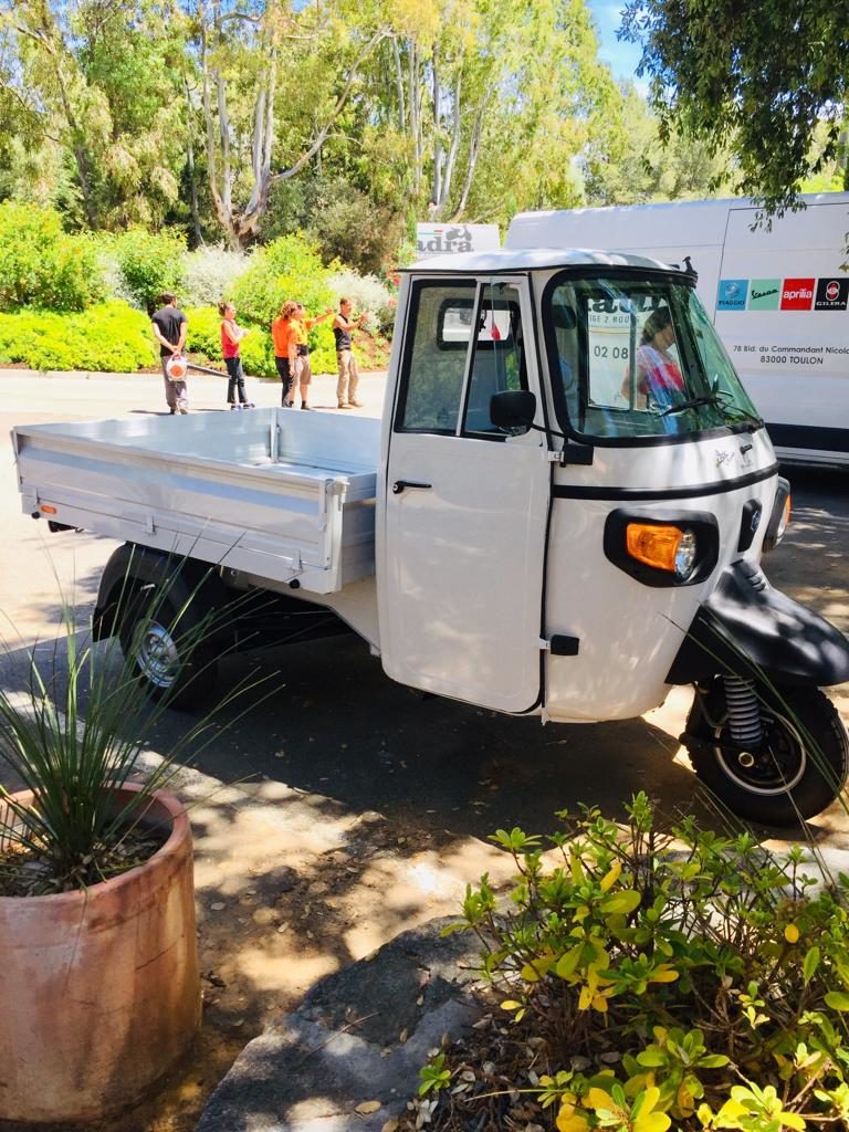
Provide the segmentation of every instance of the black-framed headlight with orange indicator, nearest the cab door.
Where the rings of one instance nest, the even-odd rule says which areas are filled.
[[[700,511],[623,507],[604,523],[604,555],[643,585],[693,585],[719,559],[719,526]]]

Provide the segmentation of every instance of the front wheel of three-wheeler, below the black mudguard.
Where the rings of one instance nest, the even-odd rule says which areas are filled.
[[[840,717],[818,688],[778,688],[774,706],[760,704],[763,728],[756,749],[735,749],[723,680],[696,692],[687,735],[698,779],[740,817],[792,825],[822,813],[843,789],[849,739]]]

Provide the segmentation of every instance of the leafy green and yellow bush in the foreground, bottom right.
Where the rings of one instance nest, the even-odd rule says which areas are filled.
[[[509,1056],[475,1073],[491,1053],[457,1047],[426,1067],[420,1095],[449,1097],[428,1109],[432,1126],[468,1127],[479,1112],[506,1126],[521,1090],[520,1123],[560,1132],[844,1127],[849,878],[821,883],[803,850],[779,859],[693,818],[662,837],[645,795],[628,813],[624,833],[586,811],[549,839],[555,863],[520,829],[492,838],[518,871],[511,906],[484,876],[448,931],[483,942]],[[475,1108],[477,1092],[491,1105],[494,1073],[495,1120]]]

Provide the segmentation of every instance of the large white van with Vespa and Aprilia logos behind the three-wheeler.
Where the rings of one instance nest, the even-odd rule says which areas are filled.
[[[604,248],[698,273],[697,292],[788,463],[849,466],[849,192],[753,230],[749,199],[522,213],[508,248]]]

